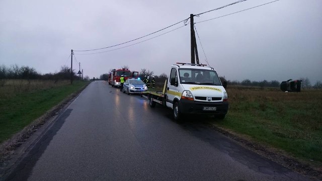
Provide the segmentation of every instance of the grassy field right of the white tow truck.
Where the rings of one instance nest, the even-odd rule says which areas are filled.
[[[250,136],[322,165],[322,91],[228,88],[229,110],[219,127]]]

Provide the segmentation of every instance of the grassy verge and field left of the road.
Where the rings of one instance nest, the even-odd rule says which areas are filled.
[[[48,86],[38,85],[38,89],[32,88],[28,91],[12,93],[7,97],[0,97],[0,143],[21,131],[88,83],[86,81],[73,81],[72,85],[67,81],[59,85],[49,83]],[[0,95],[14,86],[11,84],[0,88]],[[26,89],[23,86],[21,88]]]

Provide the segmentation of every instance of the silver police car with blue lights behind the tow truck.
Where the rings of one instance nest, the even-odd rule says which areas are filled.
[[[128,95],[140,94],[143,91],[147,91],[147,87],[139,78],[128,78],[123,84],[123,93]]]

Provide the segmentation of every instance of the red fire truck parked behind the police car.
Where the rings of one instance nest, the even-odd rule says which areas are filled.
[[[124,75],[124,80],[127,78],[137,78],[139,76],[139,72],[133,71],[131,72],[129,69],[126,68],[120,68],[120,69],[113,69],[109,73],[109,84],[112,85],[112,87],[119,87],[121,86],[120,78]]]

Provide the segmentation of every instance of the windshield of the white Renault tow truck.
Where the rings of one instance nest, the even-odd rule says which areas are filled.
[[[180,68],[180,83],[221,85],[220,79],[215,70]]]

